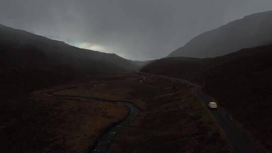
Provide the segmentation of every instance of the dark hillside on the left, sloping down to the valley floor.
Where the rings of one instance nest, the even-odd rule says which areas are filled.
[[[137,67],[137,64],[116,54],[81,49],[0,25],[1,98],[83,80],[86,74],[118,72]]]

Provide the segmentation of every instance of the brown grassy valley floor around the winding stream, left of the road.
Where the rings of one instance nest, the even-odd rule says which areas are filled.
[[[137,73],[90,75],[80,84],[1,101],[0,152],[94,151],[101,135],[131,112],[121,101],[140,112],[107,152],[232,152],[192,87]]]

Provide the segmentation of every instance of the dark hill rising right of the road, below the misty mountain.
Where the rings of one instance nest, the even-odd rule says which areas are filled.
[[[204,82],[204,90],[250,131],[265,152],[272,148],[271,59],[272,44],[214,58],[164,58],[141,71]]]

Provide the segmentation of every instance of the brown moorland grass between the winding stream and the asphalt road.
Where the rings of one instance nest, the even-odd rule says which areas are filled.
[[[129,99],[139,106],[141,113],[118,132],[109,152],[232,152],[224,131],[182,82],[146,76],[143,83],[101,84],[70,93]]]

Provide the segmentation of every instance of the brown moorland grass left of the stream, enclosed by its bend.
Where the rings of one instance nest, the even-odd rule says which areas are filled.
[[[45,95],[14,100],[9,108],[14,117],[0,129],[0,152],[87,152],[129,111],[115,103]]]

